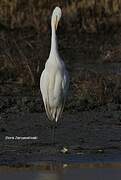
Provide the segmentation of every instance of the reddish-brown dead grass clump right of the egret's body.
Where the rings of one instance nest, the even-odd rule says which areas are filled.
[[[85,77],[73,81],[73,101],[82,108],[84,102],[92,108],[107,103],[120,103],[121,76],[84,71]],[[86,78],[88,77],[88,78]]]

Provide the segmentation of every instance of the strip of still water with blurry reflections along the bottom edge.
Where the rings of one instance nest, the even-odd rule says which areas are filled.
[[[45,164],[29,167],[1,167],[0,180],[120,180],[121,164]]]

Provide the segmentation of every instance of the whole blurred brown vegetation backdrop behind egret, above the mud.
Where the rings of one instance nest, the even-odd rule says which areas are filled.
[[[44,111],[39,78],[55,6],[63,12],[57,36],[71,78],[65,110],[120,108],[120,0],[1,0],[0,111]]]

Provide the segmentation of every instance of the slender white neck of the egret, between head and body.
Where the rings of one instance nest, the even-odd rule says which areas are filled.
[[[57,37],[56,37],[56,30],[55,26],[51,25],[52,35],[51,35],[51,50],[50,56],[57,56],[58,55],[58,44],[57,44]]]

